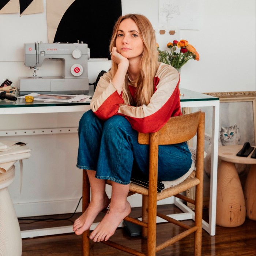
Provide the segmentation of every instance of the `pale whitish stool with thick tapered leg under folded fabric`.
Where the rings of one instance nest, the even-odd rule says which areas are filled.
[[[15,166],[0,174],[0,255],[21,256],[22,239],[19,222],[8,191],[14,181]],[[3,253],[3,254],[1,254]]]

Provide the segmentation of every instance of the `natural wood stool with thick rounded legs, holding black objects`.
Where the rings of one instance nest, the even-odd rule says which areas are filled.
[[[255,195],[255,178],[254,183],[253,180],[247,179],[249,184],[246,186],[246,196],[244,197],[235,163],[255,166],[256,159],[251,158],[251,154],[248,157],[237,157],[236,154],[241,148],[242,145],[232,145],[218,149],[218,157],[222,160],[218,168],[217,180],[216,224],[219,226],[237,227],[242,225],[245,221],[246,209],[250,209],[250,216],[253,215],[253,212],[255,214],[255,211],[252,210],[255,207],[255,196],[254,199],[251,196],[253,193]],[[250,176],[255,175],[253,171],[251,173]]]

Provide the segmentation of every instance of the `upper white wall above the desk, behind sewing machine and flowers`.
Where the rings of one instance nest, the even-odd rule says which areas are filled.
[[[189,61],[182,68],[181,87],[198,92],[255,90],[255,0],[199,2],[200,30],[181,30],[177,38],[187,39],[200,54],[199,62]],[[158,26],[158,0],[122,0],[122,9],[123,14],[144,14]],[[39,41],[47,42],[46,11],[0,15],[0,82],[8,78],[15,85],[18,76],[32,75],[23,65],[23,43]],[[89,61],[90,83],[109,67],[105,62]],[[37,73],[60,75],[60,69],[47,63]]]

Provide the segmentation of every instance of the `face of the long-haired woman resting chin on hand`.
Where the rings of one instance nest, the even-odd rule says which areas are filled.
[[[116,37],[117,51],[127,59],[140,57],[144,44],[139,29],[132,19],[124,19],[118,28]]]

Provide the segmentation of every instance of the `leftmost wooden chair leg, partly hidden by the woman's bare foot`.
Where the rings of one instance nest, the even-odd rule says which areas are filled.
[[[83,201],[82,211],[84,212],[90,203],[90,182],[87,171],[83,170]],[[90,255],[90,239],[88,237],[90,230],[86,230],[82,234],[82,256]]]

